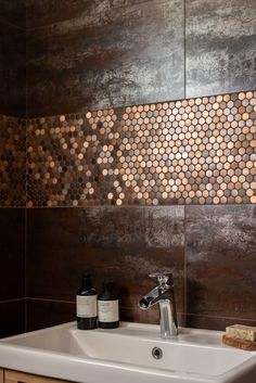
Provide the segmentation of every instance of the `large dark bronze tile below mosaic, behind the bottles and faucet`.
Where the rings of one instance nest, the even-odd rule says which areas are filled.
[[[184,308],[183,207],[28,209],[27,294],[75,302],[80,277],[114,279],[123,308],[138,305],[154,286],[148,273],[174,272],[177,308]],[[54,280],[54,283],[52,281]],[[149,314],[150,316],[153,315]],[[149,315],[141,311],[141,320]]]

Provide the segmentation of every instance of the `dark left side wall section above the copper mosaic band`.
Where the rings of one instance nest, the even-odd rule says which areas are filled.
[[[0,5],[0,114],[25,117],[25,0],[1,0]]]

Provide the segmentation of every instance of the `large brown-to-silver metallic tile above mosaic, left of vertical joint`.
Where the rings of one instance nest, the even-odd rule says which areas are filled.
[[[28,116],[183,97],[183,1],[94,4],[28,30]]]

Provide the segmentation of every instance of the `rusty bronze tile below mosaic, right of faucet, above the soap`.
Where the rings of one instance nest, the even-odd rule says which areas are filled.
[[[256,320],[256,208],[187,206],[187,312]]]

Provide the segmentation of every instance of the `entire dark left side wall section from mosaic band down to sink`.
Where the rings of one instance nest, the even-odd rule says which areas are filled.
[[[0,209],[0,336],[25,330],[25,209]]]

